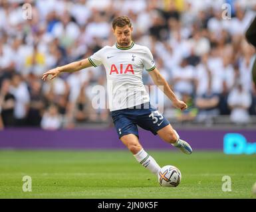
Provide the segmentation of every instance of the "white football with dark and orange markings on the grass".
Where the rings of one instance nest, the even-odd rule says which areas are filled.
[[[175,166],[164,166],[158,172],[158,182],[163,187],[176,187],[182,180],[182,174]]]

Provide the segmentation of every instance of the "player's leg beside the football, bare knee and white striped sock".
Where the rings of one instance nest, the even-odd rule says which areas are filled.
[[[123,144],[132,152],[134,158],[145,168],[150,170],[153,174],[158,174],[160,166],[141,146],[138,136],[135,134],[125,134],[120,138]]]

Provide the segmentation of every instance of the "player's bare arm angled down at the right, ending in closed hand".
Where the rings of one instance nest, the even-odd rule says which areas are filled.
[[[163,78],[163,76],[160,74],[157,68],[154,68],[154,70],[150,71],[149,74],[153,79],[155,85],[157,85],[164,92],[164,94],[172,101],[174,107],[181,109],[182,111],[188,108],[188,105],[186,105],[184,101],[181,101],[176,97],[174,91],[172,91],[172,89],[168,85],[168,82],[166,81],[166,79]]]

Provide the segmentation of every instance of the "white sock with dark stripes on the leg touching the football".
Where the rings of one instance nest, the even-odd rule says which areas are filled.
[[[158,174],[160,166],[158,165],[156,160],[154,160],[154,158],[152,158],[152,156],[150,156],[143,148],[142,150],[140,150],[140,152],[134,154],[134,157],[140,164],[142,164],[142,166],[150,170],[150,172],[152,172],[153,174]]]

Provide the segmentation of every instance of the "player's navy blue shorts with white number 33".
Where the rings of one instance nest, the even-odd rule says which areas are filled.
[[[138,126],[146,131],[151,131],[153,134],[170,124],[170,122],[150,103],[144,103],[133,108],[121,109],[112,111],[112,119],[118,137],[121,138],[125,134],[135,134],[139,137]]]

